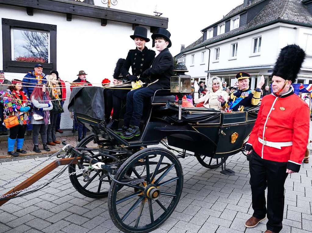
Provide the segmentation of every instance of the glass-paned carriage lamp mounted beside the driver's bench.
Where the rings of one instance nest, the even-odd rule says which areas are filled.
[[[191,76],[185,74],[188,70],[183,63],[178,63],[173,71],[177,75],[170,78],[170,92],[178,96],[179,120],[181,120],[182,98],[184,95],[191,93]]]

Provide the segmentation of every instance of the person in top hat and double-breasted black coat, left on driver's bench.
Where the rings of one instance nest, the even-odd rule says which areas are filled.
[[[147,38],[147,29],[141,26],[134,28],[134,34],[130,35],[130,38],[134,40],[135,49],[130,49],[126,60],[124,61],[120,72],[124,79],[127,81],[137,81],[140,76],[141,80],[146,83],[147,80],[142,79],[142,73],[148,69],[155,58],[155,51],[148,49],[145,46],[146,42],[149,42]],[[117,62],[118,65],[118,62]],[[132,75],[129,73],[131,67]],[[118,74],[119,75],[119,74]],[[112,121],[107,125],[112,129],[117,129],[119,124],[119,114],[121,110],[121,103],[127,97],[130,90],[126,89],[114,89],[113,90],[113,116]]]

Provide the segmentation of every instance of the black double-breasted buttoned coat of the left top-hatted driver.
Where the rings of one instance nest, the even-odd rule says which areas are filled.
[[[140,75],[141,77],[142,73],[150,67],[155,56],[155,51],[148,49],[146,46],[142,50],[142,52],[138,48],[130,49],[127,58],[124,61],[124,65],[120,69],[122,76],[127,79],[126,76],[130,75],[129,69],[131,67],[132,75]]]

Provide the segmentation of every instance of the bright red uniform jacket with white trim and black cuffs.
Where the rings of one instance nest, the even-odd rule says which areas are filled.
[[[256,123],[251,131],[246,150],[252,146],[261,158],[276,162],[288,162],[287,168],[298,172],[309,139],[310,117],[308,105],[292,90],[276,97],[263,97]],[[260,139],[259,139],[260,138]],[[290,143],[275,148],[262,144]]]

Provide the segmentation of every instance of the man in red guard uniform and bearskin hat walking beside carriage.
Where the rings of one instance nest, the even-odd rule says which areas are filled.
[[[299,171],[308,142],[309,107],[291,87],[304,57],[297,45],[281,49],[272,74],[273,93],[263,97],[246,145],[254,213],[245,226],[254,227],[267,215],[265,233],[282,229],[284,183],[289,173]]]

